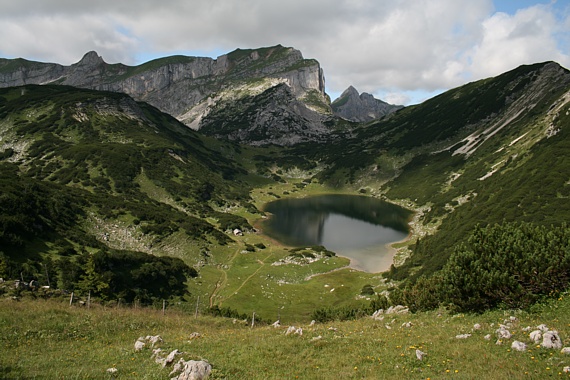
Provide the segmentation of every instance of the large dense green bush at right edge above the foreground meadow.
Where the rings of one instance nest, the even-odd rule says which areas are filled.
[[[570,285],[570,228],[503,223],[478,226],[443,269],[391,294],[411,310],[528,308]]]

